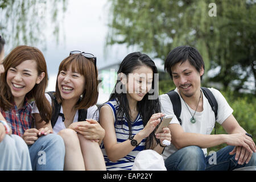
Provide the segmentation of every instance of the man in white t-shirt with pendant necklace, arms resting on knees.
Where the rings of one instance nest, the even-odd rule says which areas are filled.
[[[167,170],[233,170],[256,166],[256,147],[250,134],[238,124],[233,109],[222,94],[213,88],[218,104],[217,117],[201,90],[204,61],[193,47],[180,46],[172,50],[164,64],[176,86],[181,101],[181,125],[174,114],[170,97],[160,96],[162,111],[173,114],[168,126],[172,144],[165,148],[163,157]],[[215,122],[226,133],[210,135]],[[226,143],[227,147],[207,156],[207,148]]]

